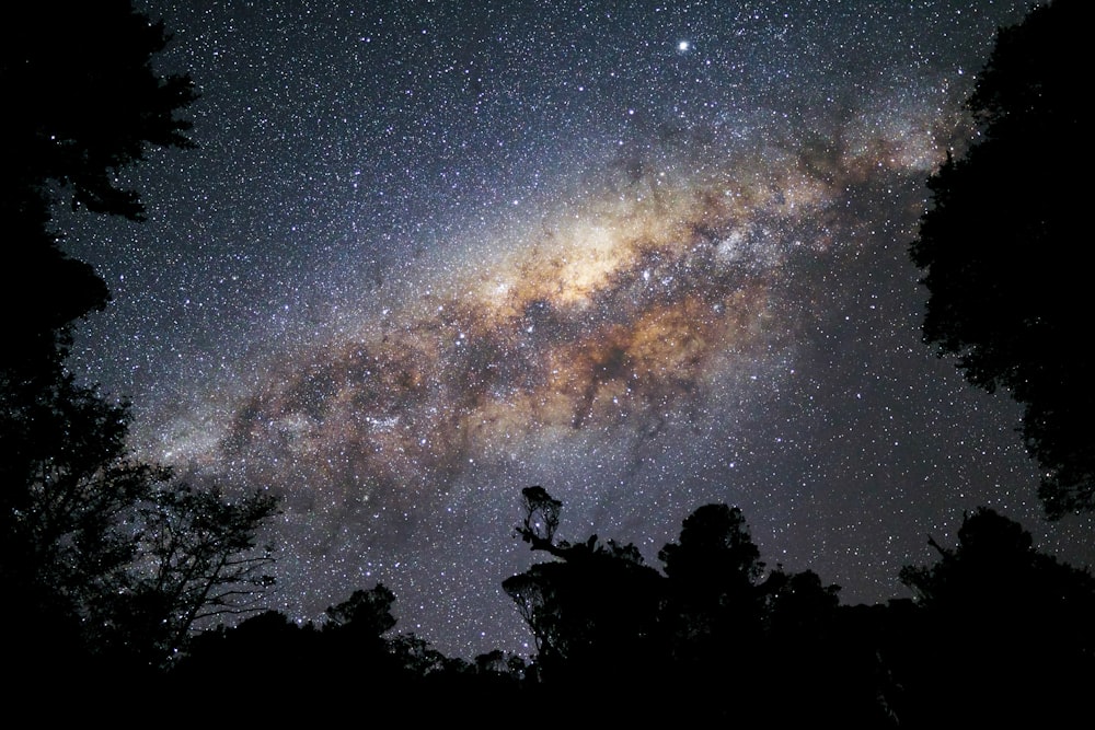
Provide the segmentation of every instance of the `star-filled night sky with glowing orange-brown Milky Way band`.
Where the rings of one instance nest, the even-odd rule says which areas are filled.
[[[738,506],[845,603],[988,505],[1041,520],[1006,395],[920,338],[926,176],[1008,0],[147,2],[198,149],[67,221],[114,292],[74,367],[134,450],[284,496],[272,607],[378,581],[448,656],[532,639],[520,490],[632,542]]]

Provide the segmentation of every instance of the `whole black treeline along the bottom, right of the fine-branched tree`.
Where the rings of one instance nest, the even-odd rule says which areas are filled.
[[[503,586],[535,637],[531,658],[468,661],[394,634],[395,596],[378,584],[320,625],[266,612],[206,631],[163,680],[320,691],[328,709],[384,697],[415,723],[533,711],[867,728],[1048,727],[1095,680],[1095,577],[990,509],[966,515],[955,546],[932,540],[932,565],[902,569],[913,599],[851,606],[810,570],[765,568],[726,505],[685,518],[658,570],[634,545],[556,540],[562,503],[541,487],[522,503],[516,533],[548,559]]]

